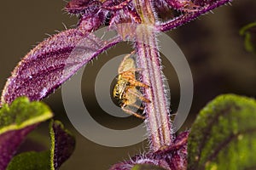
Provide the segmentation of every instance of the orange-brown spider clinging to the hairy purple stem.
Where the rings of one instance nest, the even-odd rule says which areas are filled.
[[[113,97],[119,99],[119,105],[123,111],[133,116],[144,119],[144,116],[131,111],[131,108],[137,108],[143,111],[144,108],[137,105],[137,99],[143,102],[150,103],[149,99],[143,97],[143,94],[137,90],[137,87],[149,88],[147,84],[139,82],[136,79],[136,71],[141,71],[142,69],[136,68],[135,60],[131,58],[131,54],[125,56],[121,64],[119,65],[119,77],[118,81],[113,88]]]

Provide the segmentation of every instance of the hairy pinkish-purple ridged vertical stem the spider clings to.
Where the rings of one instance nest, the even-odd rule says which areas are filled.
[[[142,24],[137,26],[136,31],[137,65],[143,68],[142,82],[150,87],[144,90],[145,97],[151,101],[145,108],[146,125],[151,150],[156,151],[172,144],[172,126],[157,46],[157,32],[154,29],[156,18],[150,3],[148,0],[134,0],[142,18]]]

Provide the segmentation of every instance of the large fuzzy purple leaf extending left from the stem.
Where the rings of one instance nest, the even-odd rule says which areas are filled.
[[[16,66],[3,90],[2,104],[9,104],[19,96],[43,99],[81,66],[117,42],[119,38],[102,41],[83,29],[62,31],[49,37]],[[72,54],[74,48],[77,50]]]

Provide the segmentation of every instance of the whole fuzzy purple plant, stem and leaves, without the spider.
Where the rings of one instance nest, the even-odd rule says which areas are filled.
[[[145,97],[152,101],[145,107],[151,150],[143,156],[133,157],[131,161],[117,164],[112,169],[129,169],[128,167],[131,168],[137,163],[151,163],[166,169],[186,169],[189,133],[181,133],[177,138],[173,136],[165,89],[161,86],[163,80],[154,79],[162,76],[156,31],[172,30],[230,2],[231,0],[72,0],[67,3],[66,10],[70,14],[80,16],[77,28],[49,37],[32,49],[13,71],[3,90],[1,102],[9,104],[23,95],[32,100],[43,99],[72,77],[80,67],[120,42],[120,37],[136,37],[139,41],[154,44],[153,47],[145,46],[143,43],[136,44],[139,66],[143,68],[143,65],[157,61],[151,65],[154,71],[148,69],[148,77],[142,77],[142,82],[153,89],[145,89],[144,92]],[[178,15],[166,16],[168,20],[160,21],[156,13],[169,14],[167,11],[170,9],[176,10]],[[153,27],[154,31],[148,34],[138,33],[131,28],[118,27],[122,23],[148,25]],[[90,34],[104,24],[110,30],[117,29],[119,37],[105,42]],[[144,39],[140,39],[141,35],[145,35]],[[70,58],[73,49],[84,39],[82,48],[86,48],[86,52],[89,49],[90,53],[83,56],[82,50],[80,54]]]

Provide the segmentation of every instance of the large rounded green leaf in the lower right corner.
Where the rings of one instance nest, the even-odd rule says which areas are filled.
[[[189,169],[256,169],[256,101],[226,94],[197,116],[189,134]]]

